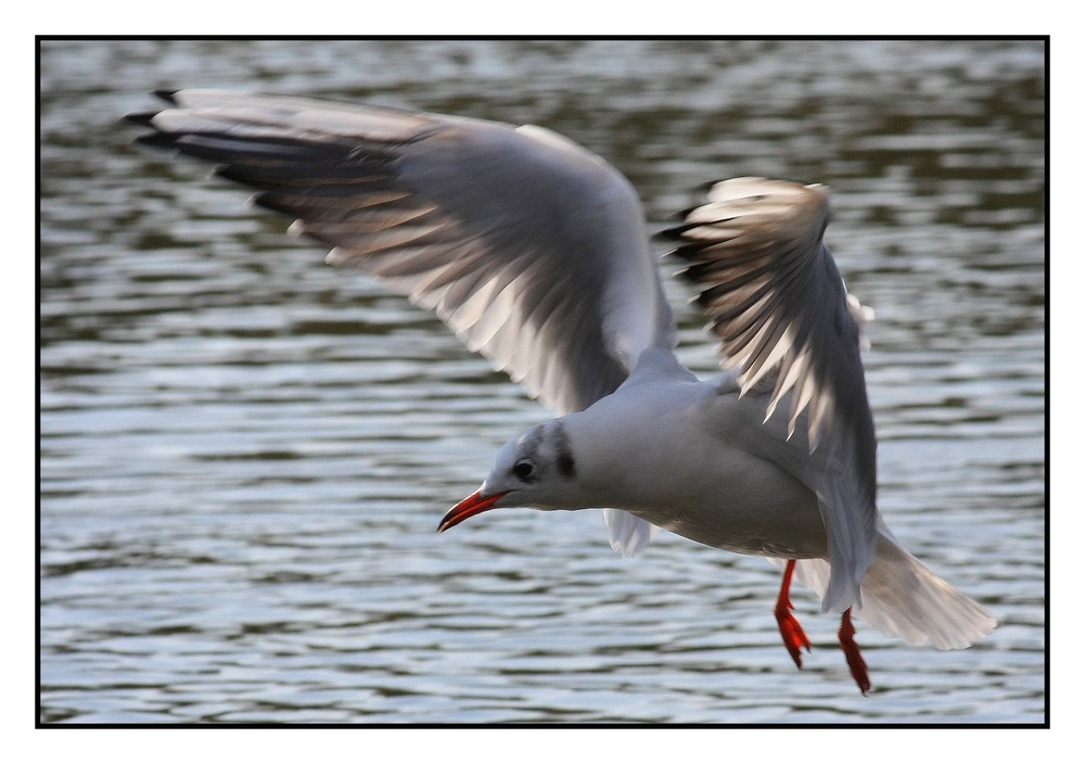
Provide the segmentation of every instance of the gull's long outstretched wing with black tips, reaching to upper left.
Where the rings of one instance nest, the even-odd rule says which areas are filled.
[[[434,310],[561,413],[674,345],[640,205],[613,167],[525,126],[180,90],[140,140],[217,163],[256,204]]]

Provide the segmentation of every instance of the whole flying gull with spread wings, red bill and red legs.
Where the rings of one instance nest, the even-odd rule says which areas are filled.
[[[824,242],[822,186],[732,178],[663,235],[719,342],[722,374],[675,357],[675,319],[629,181],[533,125],[334,100],[158,91],[139,142],[217,165],[255,204],[434,311],[557,418],[511,438],[438,532],[501,507],[602,509],[611,546],[660,529],[782,565],[775,615],[802,667],[792,578],[914,646],[965,648],[995,619],[893,537],[876,504],[860,359],[871,318]]]

